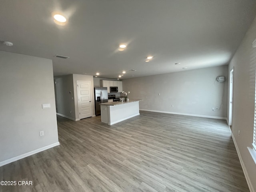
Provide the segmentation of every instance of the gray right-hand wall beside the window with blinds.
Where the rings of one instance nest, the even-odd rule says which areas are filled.
[[[256,20],[229,64],[229,70],[234,67],[232,134],[254,191],[256,190],[256,159],[254,162],[247,147],[252,147],[254,126],[256,48],[252,48],[252,42],[255,39]],[[255,151],[254,155],[256,157]]]

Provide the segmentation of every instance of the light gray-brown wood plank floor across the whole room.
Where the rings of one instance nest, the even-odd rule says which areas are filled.
[[[249,192],[226,120],[140,112],[58,117],[60,146],[0,167],[1,192]]]

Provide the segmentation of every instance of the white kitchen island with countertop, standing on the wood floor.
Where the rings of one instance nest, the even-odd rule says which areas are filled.
[[[113,125],[140,114],[139,102],[129,100],[124,102],[107,102],[100,104],[101,122]]]

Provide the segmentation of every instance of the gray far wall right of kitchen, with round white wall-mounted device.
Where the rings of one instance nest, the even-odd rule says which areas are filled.
[[[122,81],[123,90],[130,91],[129,98],[143,99],[140,109],[226,118],[228,83],[217,82],[220,75],[228,77],[228,66]],[[212,106],[219,110],[212,111]]]

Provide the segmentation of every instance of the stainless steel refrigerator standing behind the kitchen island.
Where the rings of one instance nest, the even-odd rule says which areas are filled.
[[[95,115],[100,115],[100,103],[108,102],[108,88],[94,87]]]

